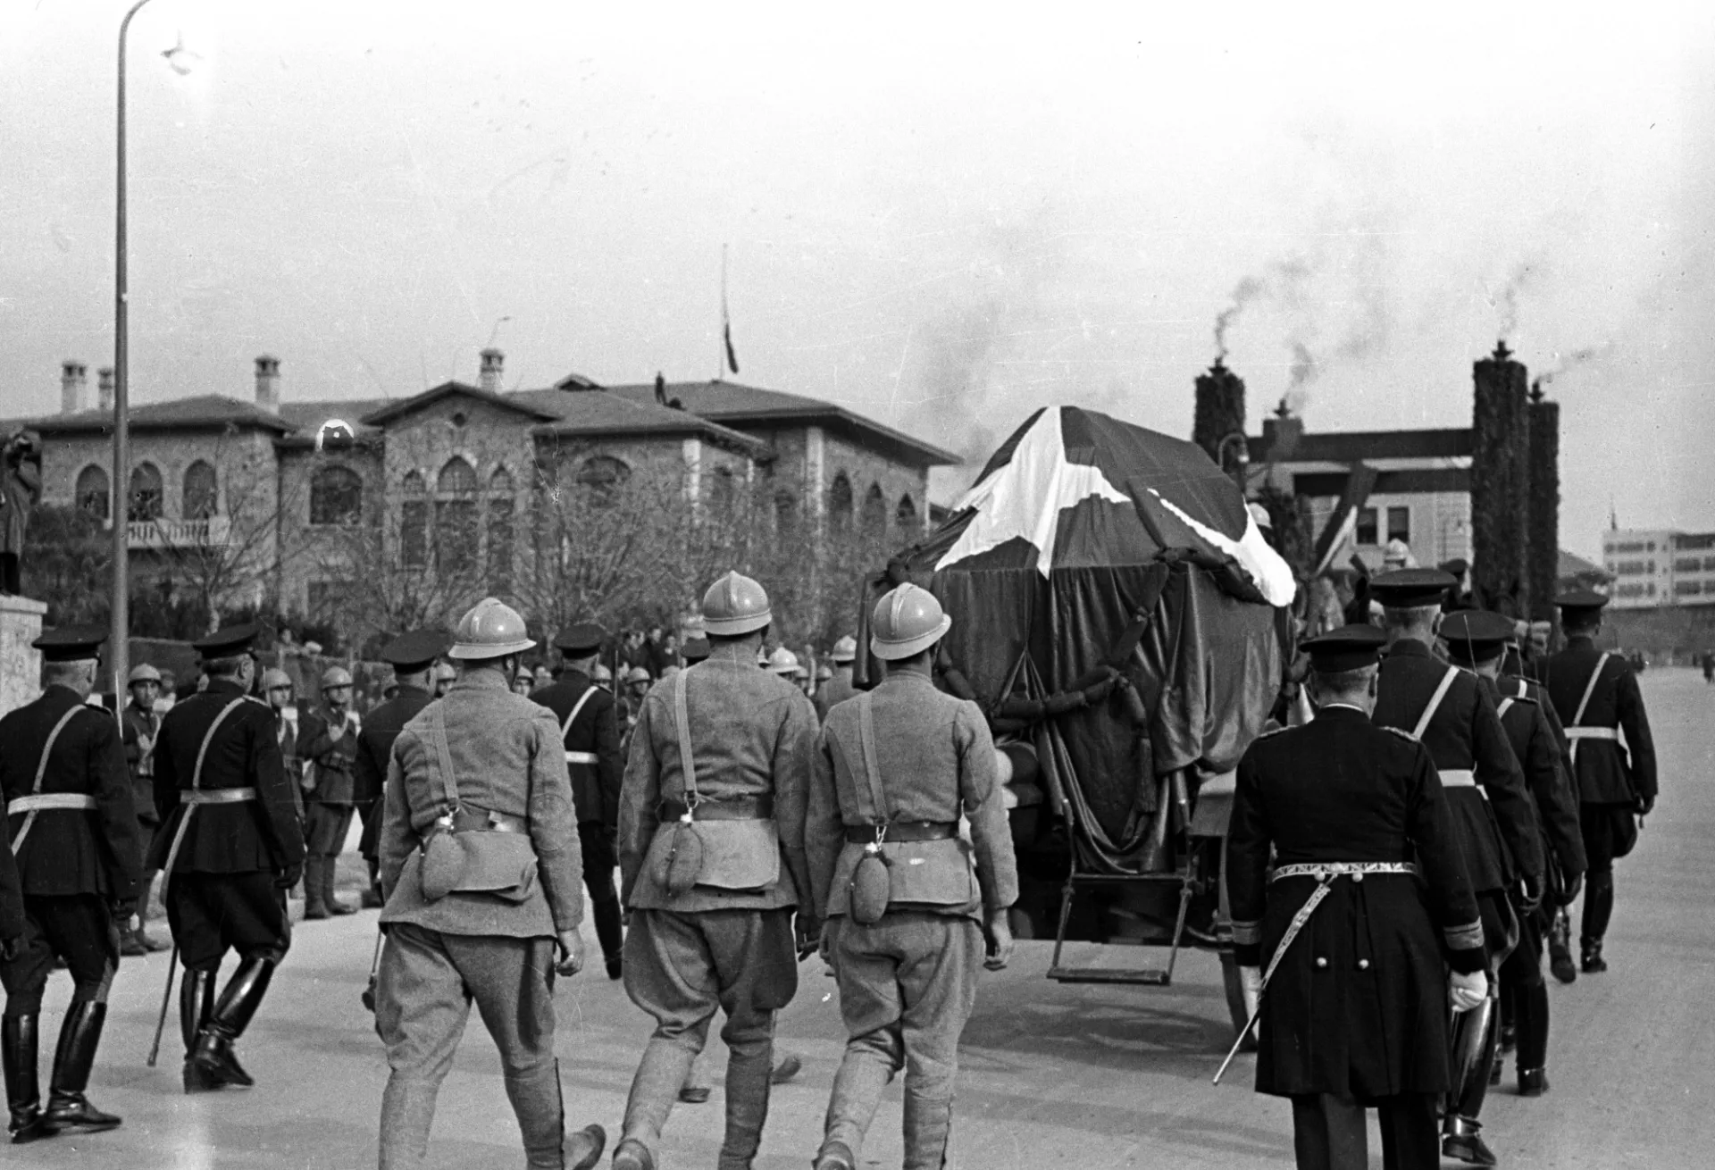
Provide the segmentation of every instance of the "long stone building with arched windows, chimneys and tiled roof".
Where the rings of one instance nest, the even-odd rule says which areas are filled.
[[[816,534],[861,523],[906,537],[930,523],[930,468],[957,461],[797,395],[659,377],[607,388],[578,374],[504,391],[502,367],[499,350],[484,350],[475,386],[295,401],[264,355],[242,398],[134,405],[134,573],[213,606],[274,604],[317,623],[381,599],[386,618],[370,624],[398,626],[472,592],[551,597],[557,582],[544,575],[576,539],[566,501],[647,487],[650,518],[713,527],[743,515]],[[89,401],[86,367],[63,365],[60,413],[29,424],[43,436],[45,504],[111,522],[111,407],[108,371]]]

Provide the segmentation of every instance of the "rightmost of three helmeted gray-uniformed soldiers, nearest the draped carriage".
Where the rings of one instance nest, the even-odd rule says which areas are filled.
[[[887,679],[830,710],[816,741],[804,846],[847,1040],[815,1170],[859,1165],[900,1067],[906,1170],[945,1165],[976,969],[998,971],[1012,956],[1019,875],[995,741],[978,705],[936,690],[930,674],[950,626],[916,585],[876,602],[870,648]]]

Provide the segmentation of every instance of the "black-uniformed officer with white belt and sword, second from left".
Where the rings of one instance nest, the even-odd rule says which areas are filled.
[[[230,626],[194,643],[208,690],[166,712],[154,748],[161,829],[149,863],[161,870],[185,966],[178,988],[185,1093],[254,1083],[232,1046],[292,945],[286,890],[304,875],[304,830],[274,712],[250,697],[256,633],[254,624]],[[238,969],[216,1000],[228,949],[238,952]]]

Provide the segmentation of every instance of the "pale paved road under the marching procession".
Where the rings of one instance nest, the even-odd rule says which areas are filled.
[[[1504,1167],[1614,1170],[1715,1165],[1715,686],[1691,671],[1650,671],[1645,697],[1657,729],[1664,796],[1638,851],[1621,863],[1609,937],[1612,971],[1554,985],[1554,1089],[1521,1100],[1507,1084],[1490,1100],[1489,1137]],[[118,1131],[60,1137],[0,1165],[151,1170],[156,1167],[365,1167],[386,1064],[358,1004],[374,913],[310,923],[242,1053],[259,1088],[187,1098],[178,1048],[146,1069],[165,956],[127,961],[93,1095],[125,1117]],[[1171,990],[1048,983],[1046,944],[1022,944],[1015,966],[984,976],[966,1033],[954,1165],[976,1167],[1290,1167],[1283,1101],[1249,1089],[1250,1060],[1214,1088],[1228,1041],[1213,957],[1182,961]],[[1092,949],[1094,950],[1094,949]],[[1080,961],[1128,956],[1086,956]],[[804,964],[784,1012],[784,1045],[804,1057],[796,1084],[777,1089],[760,1170],[801,1170],[820,1137],[827,1086],[840,1052],[833,981]],[[67,995],[50,997],[50,1036]],[[576,1124],[617,1127],[645,1017],[600,974],[561,986],[561,1074]],[[173,1024],[177,1029],[177,1024]],[[51,1048],[51,1040],[50,1045]],[[719,1058],[719,1053],[717,1053]],[[719,1084],[719,1081],[717,1081]],[[664,1167],[710,1167],[720,1101],[679,1107]],[[876,1120],[866,1156],[899,1165],[899,1089]],[[1372,1163],[1381,1165],[1372,1139]],[[441,1095],[430,1167],[513,1167],[516,1129],[492,1045],[472,1028]]]

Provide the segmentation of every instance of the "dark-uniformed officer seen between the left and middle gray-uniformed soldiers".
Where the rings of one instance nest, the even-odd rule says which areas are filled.
[[[602,945],[607,978],[617,980],[624,973],[624,935],[619,925],[619,892],[614,889],[614,870],[619,868],[614,839],[619,832],[619,782],[626,765],[619,757],[619,710],[614,697],[593,679],[605,640],[607,631],[595,623],[564,630],[554,640],[564,669],[552,686],[533,691],[530,698],[552,710],[559,721],[566,770],[571,772],[571,799],[578,806],[583,885],[590,890],[595,938]]]

